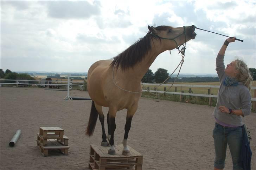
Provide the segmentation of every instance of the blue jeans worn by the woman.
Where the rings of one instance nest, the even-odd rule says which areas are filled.
[[[225,167],[227,144],[229,144],[233,162],[233,170],[243,170],[242,161],[240,159],[240,152],[243,142],[242,126],[227,127],[215,123],[215,128],[213,129],[213,138],[215,146],[214,167],[218,169],[223,169]]]

